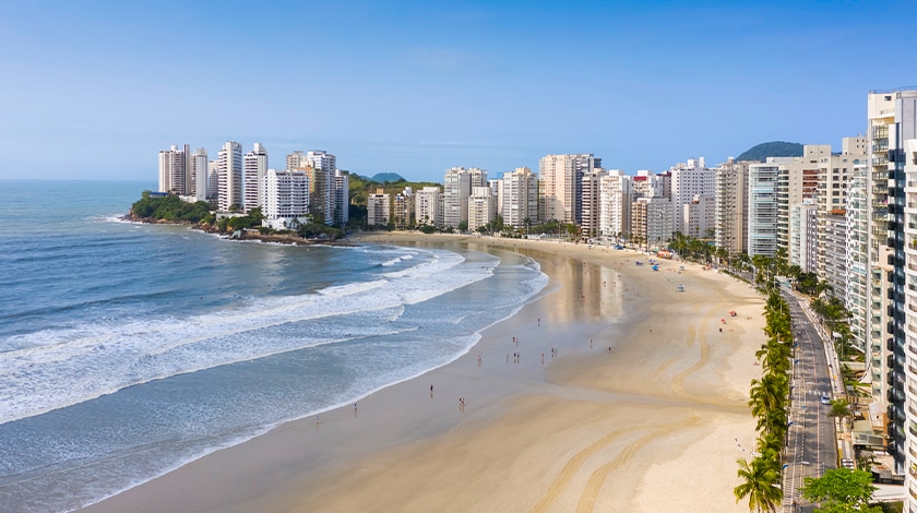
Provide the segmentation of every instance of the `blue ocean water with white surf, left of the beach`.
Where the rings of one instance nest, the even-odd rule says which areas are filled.
[[[70,511],[442,366],[547,284],[519,255],[118,219],[154,187],[0,181],[0,511]]]

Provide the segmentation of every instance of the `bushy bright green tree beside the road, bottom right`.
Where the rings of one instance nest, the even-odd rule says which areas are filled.
[[[822,477],[807,477],[801,488],[802,497],[821,503],[815,511],[826,513],[881,513],[880,508],[869,505],[876,490],[871,473],[851,468],[833,468]]]

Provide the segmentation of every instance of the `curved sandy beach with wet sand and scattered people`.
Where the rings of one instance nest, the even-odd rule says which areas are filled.
[[[84,511],[748,510],[733,488],[754,442],[748,389],[764,343],[748,284],[585,244],[362,240],[520,253],[550,283],[444,367]]]

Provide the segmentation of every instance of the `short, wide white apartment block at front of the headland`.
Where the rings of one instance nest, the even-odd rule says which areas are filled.
[[[309,175],[301,169],[264,175],[264,219],[262,225],[274,229],[293,228],[305,223],[309,214]]]

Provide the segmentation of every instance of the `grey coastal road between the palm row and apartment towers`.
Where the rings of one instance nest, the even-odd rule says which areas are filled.
[[[793,404],[789,413],[787,460],[784,468],[783,511],[810,512],[814,504],[806,503],[799,488],[803,477],[820,477],[824,470],[837,465],[837,443],[834,419],[829,417],[831,405],[822,404],[825,395],[833,398],[833,366],[829,367],[824,344],[818,329],[802,309],[799,299],[789,291],[783,293],[793,317],[796,356],[793,365]]]

